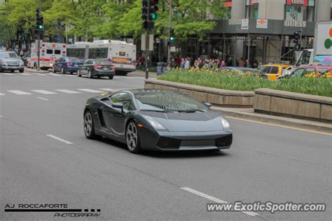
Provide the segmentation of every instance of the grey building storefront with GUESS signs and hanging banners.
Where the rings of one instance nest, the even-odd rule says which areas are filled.
[[[206,41],[191,39],[183,55],[257,59],[260,64],[291,63],[294,32],[301,48],[312,48],[315,22],[331,20],[331,0],[225,0],[226,17]]]

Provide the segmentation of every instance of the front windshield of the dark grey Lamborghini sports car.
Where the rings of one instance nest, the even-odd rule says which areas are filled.
[[[202,102],[176,92],[141,92],[134,94],[141,110],[153,111],[205,111],[209,110]]]

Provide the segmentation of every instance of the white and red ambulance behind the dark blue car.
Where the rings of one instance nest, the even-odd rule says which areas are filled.
[[[32,43],[31,55],[27,66],[36,69],[38,66],[38,48],[36,43]],[[60,57],[67,56],[67,44],[48,43],[41,41],[39,66],[41,69],[50,69]]]

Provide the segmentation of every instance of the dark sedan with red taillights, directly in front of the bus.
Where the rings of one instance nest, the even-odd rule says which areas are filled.
[[[77,76],[88,76],[92,77],[109,77],[113,79],[116,75],[116,68],[112,62],[107,59],[88,59],[78,68]]]

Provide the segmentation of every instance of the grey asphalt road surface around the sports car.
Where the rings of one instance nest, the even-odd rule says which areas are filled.
[[[113,80],[0,73],[0,220],[58,220],[54,213],[5,213],[7,204],[101,210],[89,220],[331,218],[332,140],[326,134],[229,119],[234,133],[229,150],[141,155],[109,139],[85,138],[86,99],[143,86],[143,76],[134,73]],[[207,212],[214,201],[292,201],[327,208]]]

